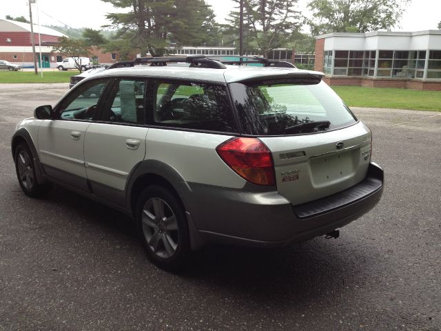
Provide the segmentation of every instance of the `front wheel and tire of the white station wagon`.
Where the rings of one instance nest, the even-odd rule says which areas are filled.
[[[28,197],[41,197],[48,192],[50,189],[48,183],[39,184],[37,182],[34,159],[32,158],[32,153],[28,145],[20,143],[19,146],[17,146],[14,153],[14,161],[21,190],[23,190]]]

